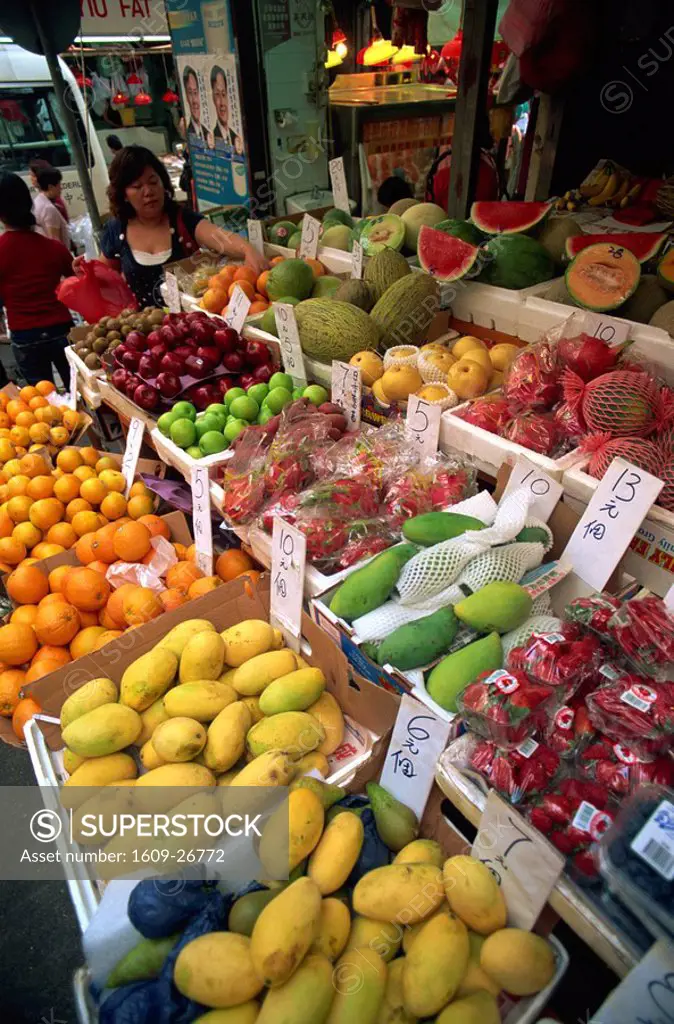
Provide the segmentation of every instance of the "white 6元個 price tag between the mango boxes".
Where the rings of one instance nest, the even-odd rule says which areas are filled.
[[[435,762],[447,746],[451,722],[446,722],[407,693],[393,726],[381,784],[410,807],[418,818],[433,784]]]

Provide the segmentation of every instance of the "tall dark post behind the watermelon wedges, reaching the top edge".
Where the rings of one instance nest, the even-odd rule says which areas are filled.
[[[479,168],[476,128],[480,116],[487,117],[487,89],[498,6],[498,0],[464,0],[463,45],[447,203],[450,217],[467,217],[475,194]]]

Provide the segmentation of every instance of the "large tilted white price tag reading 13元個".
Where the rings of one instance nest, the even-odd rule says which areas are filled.
[[[663,481],[625,459],[614,459],[561,558],[595,590],[603,590]]]

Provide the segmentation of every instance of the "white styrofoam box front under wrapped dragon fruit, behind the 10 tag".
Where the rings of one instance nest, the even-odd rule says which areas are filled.
[[[455,414],[467,409],[469,404],[470,402],[463,402],[456,409],[449,409],[443,413],[440,449],[443,452],[461,452],[469,455],[477,468],[490,476],[495,476],[504,462],[514,464],[516,459],[523,456],[544,469],[554,480],[560,480],[567,469],[584,458],[582,453],[574,450],[558,459],[551,459],[546,455],[538,455],[522,444],[515,444],[505,437],[499,437],[498,434],[476,427],[472,423],[466,423]]]

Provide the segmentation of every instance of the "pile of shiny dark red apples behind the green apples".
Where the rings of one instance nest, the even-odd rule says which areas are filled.
[[[198,311],[162,313],[148,333],[129,332],[114,343],[107,366],[113,386],[141,409],[154,412],[180,396],[204,410],[242,375],[268,381],[273,357],[266,345],[246,341],[224,321]]]

